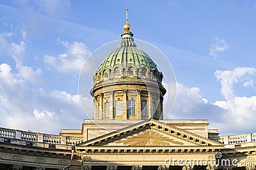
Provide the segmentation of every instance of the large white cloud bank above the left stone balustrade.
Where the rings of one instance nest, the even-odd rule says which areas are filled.
[[[84,100],[92,103],[87,97]],[[93,104],[88,107],[92,110]],[[0,127],[46,133],[81,128],[86,118],[77,94],[31,88],[8,64],[0,65],[0,111]]]

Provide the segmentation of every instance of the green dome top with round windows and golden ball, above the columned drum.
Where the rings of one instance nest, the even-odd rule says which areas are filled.
[[[106,80],[117,80],[120,78],[141,78],[156,80],[161,84],[163,74],[158,71],[154,61],[137,48],[132,38],[133,34],[124,25],[124,32],[118,48],[109,53],[102,61],[93,76],[95,85]]]

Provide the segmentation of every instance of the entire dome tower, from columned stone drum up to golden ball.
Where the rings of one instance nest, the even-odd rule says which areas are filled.
[[[95,74],[93,119],[145,120],[163,119],[163,74],[147,53],[137,48],[124,25],[118,48],[109,53]]]

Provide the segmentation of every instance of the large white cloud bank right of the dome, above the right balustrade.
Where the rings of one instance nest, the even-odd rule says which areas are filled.
[[[235,92],[237,83],[244,85],[244,88],[253,85],[252,76],[255,71],[250,67],[216,71],[225,101],[214,103],[202,97],[198,87],[189,88],[177,83],[176,103],[169,118],[207,119],[210,128],[219,129],[221,134],[255,132],[256,96],[237,97]]]

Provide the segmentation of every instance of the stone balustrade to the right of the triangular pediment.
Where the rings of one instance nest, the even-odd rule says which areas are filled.
[[[220,136],[219,141],[223,145],[251,143],[256,141],[256,133]]]

